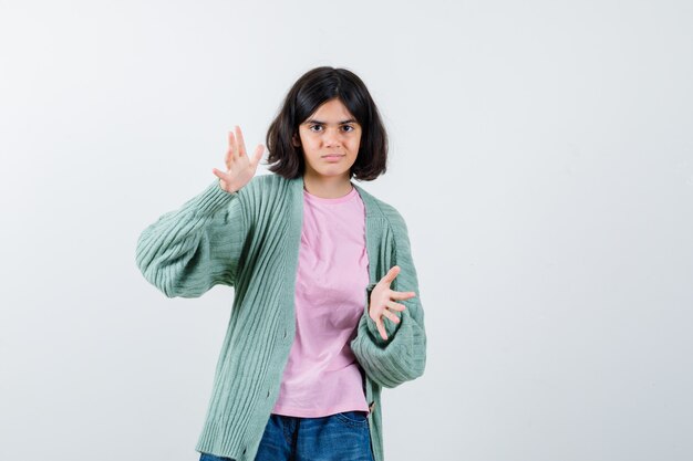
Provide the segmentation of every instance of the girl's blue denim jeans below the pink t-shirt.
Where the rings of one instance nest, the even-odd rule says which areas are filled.
[[[270,415],[255,461],[374,461],[365,411],[321,418]],[[234,461],[201,453],[199,461]]]

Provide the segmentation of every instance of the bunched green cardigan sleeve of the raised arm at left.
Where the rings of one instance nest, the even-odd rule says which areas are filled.
[[[136,263],[166,296],[197,297],[216,284],[234,285],[247,231],[239,191],[215,180],[142,232]]]

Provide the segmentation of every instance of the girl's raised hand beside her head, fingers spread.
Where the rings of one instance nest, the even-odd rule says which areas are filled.
[[[228,134],[228,150],[226,153],[226,172],[213,168],[211,172],[219,178],[219,186],[221,189],[229,193],[239,190],[247,185],[255,176],[255,171],[258,168],[260,158],[262,158],[262,151],[265,150],[261,144],[255,148],[255,155],[252,158],[248,158],[246,154],[246,144],[244,142],[244,135],[240,132],[240,127],[236,126],[236,135],[229,132]]]

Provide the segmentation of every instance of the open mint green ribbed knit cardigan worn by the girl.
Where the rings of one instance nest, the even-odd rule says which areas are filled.
[[[370,284],[351,349],[365,371],[364,392],[375,461],[383,461],[381,389],[423,375],[424,312],[404,220],[353,185],[365,206]],[[303,218],[303,178],[256,176],[228,193],[215,180],[180,209],[162,216],[137,241],[136,262],[166,296],[197,297],[216,284],[235,290],[206,421],[196,450],[254,461],[279,395],[296,332],[296,274]],[[387,339],[369,316],[370,292],[393,266],[399,324],[383,318]]]

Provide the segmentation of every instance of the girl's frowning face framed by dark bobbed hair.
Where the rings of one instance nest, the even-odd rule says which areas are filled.
[[[307,176],[351,179],[349,169],[359,154],[361,125],[339,98],[325,102],[299,125],[299,137]]]

